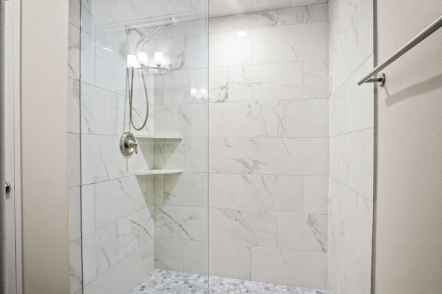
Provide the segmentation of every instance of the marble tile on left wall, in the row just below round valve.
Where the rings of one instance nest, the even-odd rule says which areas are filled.
[[[97,229],[145,209],[146,187],[135,176],[95,184]]]

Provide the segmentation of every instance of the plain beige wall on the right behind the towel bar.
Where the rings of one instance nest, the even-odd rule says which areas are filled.
[[[378,1],[378,57],[442,14],[442,1]],[[442,288],[442,30],[383,72],[378,90],[375,290]]]

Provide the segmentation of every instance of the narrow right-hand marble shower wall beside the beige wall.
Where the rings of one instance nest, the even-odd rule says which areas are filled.
[[[372,1],[329,0],[327,293],[371,293],[374,87]]]

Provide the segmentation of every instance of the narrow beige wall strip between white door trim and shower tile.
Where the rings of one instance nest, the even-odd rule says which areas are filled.
[[[22,1],[23,291],[68,293],[68,1]]]

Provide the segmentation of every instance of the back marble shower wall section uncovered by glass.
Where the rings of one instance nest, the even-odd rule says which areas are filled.
[[[209,19],[211,275],[326,288],[327,16]]]

